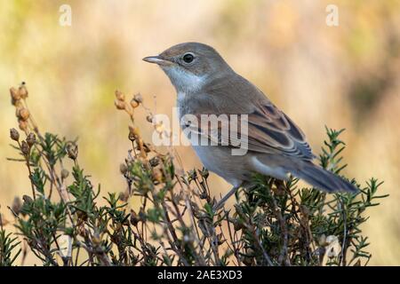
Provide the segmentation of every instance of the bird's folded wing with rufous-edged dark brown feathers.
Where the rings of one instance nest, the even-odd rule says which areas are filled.
[[[263,154],[284,154],[304,161],[315,157],[300,128],[267,98],[258,100],[253,106],[250,114],[237,114],[237,119],[228,114],[228,131],[226,123],[203,123],[201,117],[198,117],[198,125],[186,126],[190,126],[192,134],[200,134],[213,145],[244,147]]]

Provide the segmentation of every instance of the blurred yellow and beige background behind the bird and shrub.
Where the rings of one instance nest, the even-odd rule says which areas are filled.
[[[72,26],[59,23],[61,4]],[[325,8],[339,9],[328,27]],[[400,264],[400,1],[0,0],[0,204],[29,193],[28,173],[9,146],[17,128],[9,88],[25,81],[42,131],[79,138],[79,162],[103,191],[121,192],[119,164],[130,146],[114,91],[139,92],[172,116],[175,92],[141,59],[175,43],[211,44],[237,73],[296,121],[320,152],[324,125],[346,128],[348,177],[384,180],[390,197],[364,225],[371,264]],[[244,98],[245,99],[245,98]],[[145,122],[144,112],[136,115]],[[146,132],[148,129],[148,132]],[[143,135],[150,140],[148,124]],[[178,147],[186,170],[201,167]],[[229,187],[212,176],[212,191]]]

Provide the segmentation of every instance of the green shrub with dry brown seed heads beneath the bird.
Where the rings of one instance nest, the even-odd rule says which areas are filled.
[[[28,252],[43,265],[68,266],[365,265],[372,257],[362,225],[367,209],[387,196],[375,178],[363,185],[352,179],[358,193],[327,194],[295,178],[254,175],[232,208],[214,209],[209,172],[185,171],[173,148],[161,153],[144,141],[137,107],[148,112],[148,127],[168,133],[140,94],[129,100],[116,91],[132,147],[120,165],[126,188],[107,193],[79,165],[76,140],[39,130],[26,85],[11,96],[20,131],[10,131],[19,157],[9,160],[25,166],[30,188],[8,207],[13,220],[0,215],[0,265],[15,265],[19,256],[24,264]],[[326,129],[319,156],[337,175],[346,167],[342,131]]]

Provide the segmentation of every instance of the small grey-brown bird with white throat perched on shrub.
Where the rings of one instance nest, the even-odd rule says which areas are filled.
[[[254,173],[279,180],[298,177],[327,193],[358,191],[355,185],[316,165],[316,155],[299,126],[259,88],[238,75],[212,46],[179,43],[143,60],[155,63],[169,77],[177,92],[182,130],[189,128],[210,142],[192,144],[204,167],[233,185],[216,209],[241,186],[251,183]],[[188,115],[226,115],[228,122],[234,115],[244,116],[241,123],[246,128],[242,131],[236,125],[236,134],[245,139],[245,154],[233,154],[237,141],[224,133],[223,123],[213,127],[208,122],[192,123],[183,119]]]

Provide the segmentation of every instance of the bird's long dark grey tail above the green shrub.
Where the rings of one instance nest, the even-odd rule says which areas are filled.
[[[308,184],[328,193],[358,192],[355,185],[352,185],[343,178],[334,175],[331,171],[316,166],[312,162],[301,162],[297,167],[287,170],[291,172],[294,177],[304,179]]]

